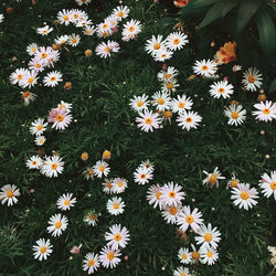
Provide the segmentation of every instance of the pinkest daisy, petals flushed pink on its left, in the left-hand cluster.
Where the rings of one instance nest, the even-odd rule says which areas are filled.
[[[65,129],[68,127],[73,117],[66,109],[53,108],[49,113],[47,121],[53,123],[52,128]]]

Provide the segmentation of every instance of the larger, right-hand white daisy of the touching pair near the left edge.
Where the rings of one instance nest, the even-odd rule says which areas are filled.
[[[62,158],[59,156],[52,156],[47,157],[46,160],[44,160],[41,173],[45,174],[49,178],[56,178],[59,173],[62,173],[64,169],[64,162],[62,161]]]

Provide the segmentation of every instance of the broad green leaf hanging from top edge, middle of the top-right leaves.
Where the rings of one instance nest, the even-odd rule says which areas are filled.
[[[237,32],[241,32],[244,26],[250,22],[253,15],[256,13],[259,6],[264,0],[244,0],[240,4],[236,19]]]

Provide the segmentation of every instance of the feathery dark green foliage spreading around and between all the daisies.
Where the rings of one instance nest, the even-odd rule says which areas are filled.
[[[275,245],[274,199],[261,195],[253,210],[244,211],[235,208],[230,200],[226,181],[221,181],[217,189],[202,185],[202,170],[212,171],[216,166],[227,179],[234,172],[255,188],[261,174],[276,169],[275,121],[255,121],[251,112],[257,95],[241,89],[242,74],[233,74],[232,64],[225,65],[222,72],[222,76],[227,75],[235,86],[232,99],[238,100],[247,110],[245,124],[235,128],[226,124],[223,115],[224,106],[232,99],[213,99],[209,94],[210,81],[187,81],[195,59],[193,50],[197,41],[190,36],[191,44],[177,52],[168,65],[179,70],[181,88],[178,94],[192,97],[194,110],[203,117],[202,124],[199,129],[187,132],[177,126],[173,117],[172,124],[167,124],[163,129],[141,132],[135,124],[136,114],[128,106],[129,99],[144,93],[151,96],[158,91],[160,84],[156,76],[161,70],[161,64],[145,53],[145,42],[152,34],[167,35],[171,29],[163,28],[158,21],[168,17],[162,6],[147,0],[128,0],[124,4],[130,8],[130,18],[142,22],[142,32],[137,41],[123,43],[118,33],[112,38],[121,45],[118,54],[109,60],[102,60],[95,54],[85,59],[84,51],[94,51],[102,40],[82,35],[81,44],[64,50],[56,64],[64,82],[72,82],[73,88],[35,86],[32,92],[38,94],[38,99],[25,107],[20,98],[21,89],[9,83],[9,75],[14,68],[26,66],[28,62],[22,61],[29,59],[25,52],[28,44],[51,45],[56,35],[78,32],[74,26],[60,25],[54,26],[49,38],[34,34],[35,28],[44,21],[53,24],[60,10],[77,6],[65,0],[38,0],[32,9],[28,1],[10,1],[9,4],[14,7],[14,11],[6,14],[0,25],[0,180],[1,187],[17,184],[21,197],[13,206],[0,206],[0,274],[85,275],[82,270],[85,254],[99,252],[105,245],[104,233],[112,224],[121,223],[131,235],[130,243],[123,251],[123,256],[129,258],[123,259],[116,269],[99,268],[98,275],[172,275],[173,268],[180,265],[178,250],[190,247],[194,240],[193,234],[188,232],[189,241],[181,243],[176,237],[176,226],[166,224],[160,212],[146,201],[148,185],[134,183],[135,169],[140,161],[149,159],[156,168],[151,183],[174,181],[181,184],[187,193],[185,204],[199,208],[205,223],[211,222],[222,233],[220,261],[211,267],[191,266],[198,275],[273,275],[267,245]],[[117,1],[94,1],[85,11],[93,22],[98,23],[116,6]],[[203,49],[203,43],[201,45]],[[214,50],[209,44],[206,46],[208,51],[201,49],[197,56],[212,57]],[[17,61],[12,61],[12,56],[17,56]],[[265,89],[270,83],[269,75],[264,74]],[[275,81],[273,84],[275,86]],[[64,131],[49,128],[45,132],[45,153],[56,150],[65,161],[64,173],[49,179],[25,168],[25,160],[38,150],[29,127],[34,119],[45,118],[60,100],[73,104],[72,113],[77,123],[72,123]],[[265,135],[261,135],[261,130],[265,130]],[[112,151],[110,178],[123,177],[129,181],[129,188],[121,194],[126,209],[118,217],[106,211],[110,197],[103,193],[103,181],[86,181],[82,176],[86,166],[93,166],[100,159],[105,149]],[[79,158],[83,151],[89,153],[86,162]],[[269,159],[265,158],[267,153]],[[55,203],[66,192],[74,193],[77,203],[71,211],[63,212],[68,216],[70,224],[62,236],[54,238],[46,233],[47,221],[52,214],[60,212]],[[82,222],[89,210],[102,213],[96,227]],[[54,246],[53,254],[41,263],[32,256],[32,246],[40,237],[50,238]],[[83,244],[81,254],[70,259],[71,247],[79,243]]]

